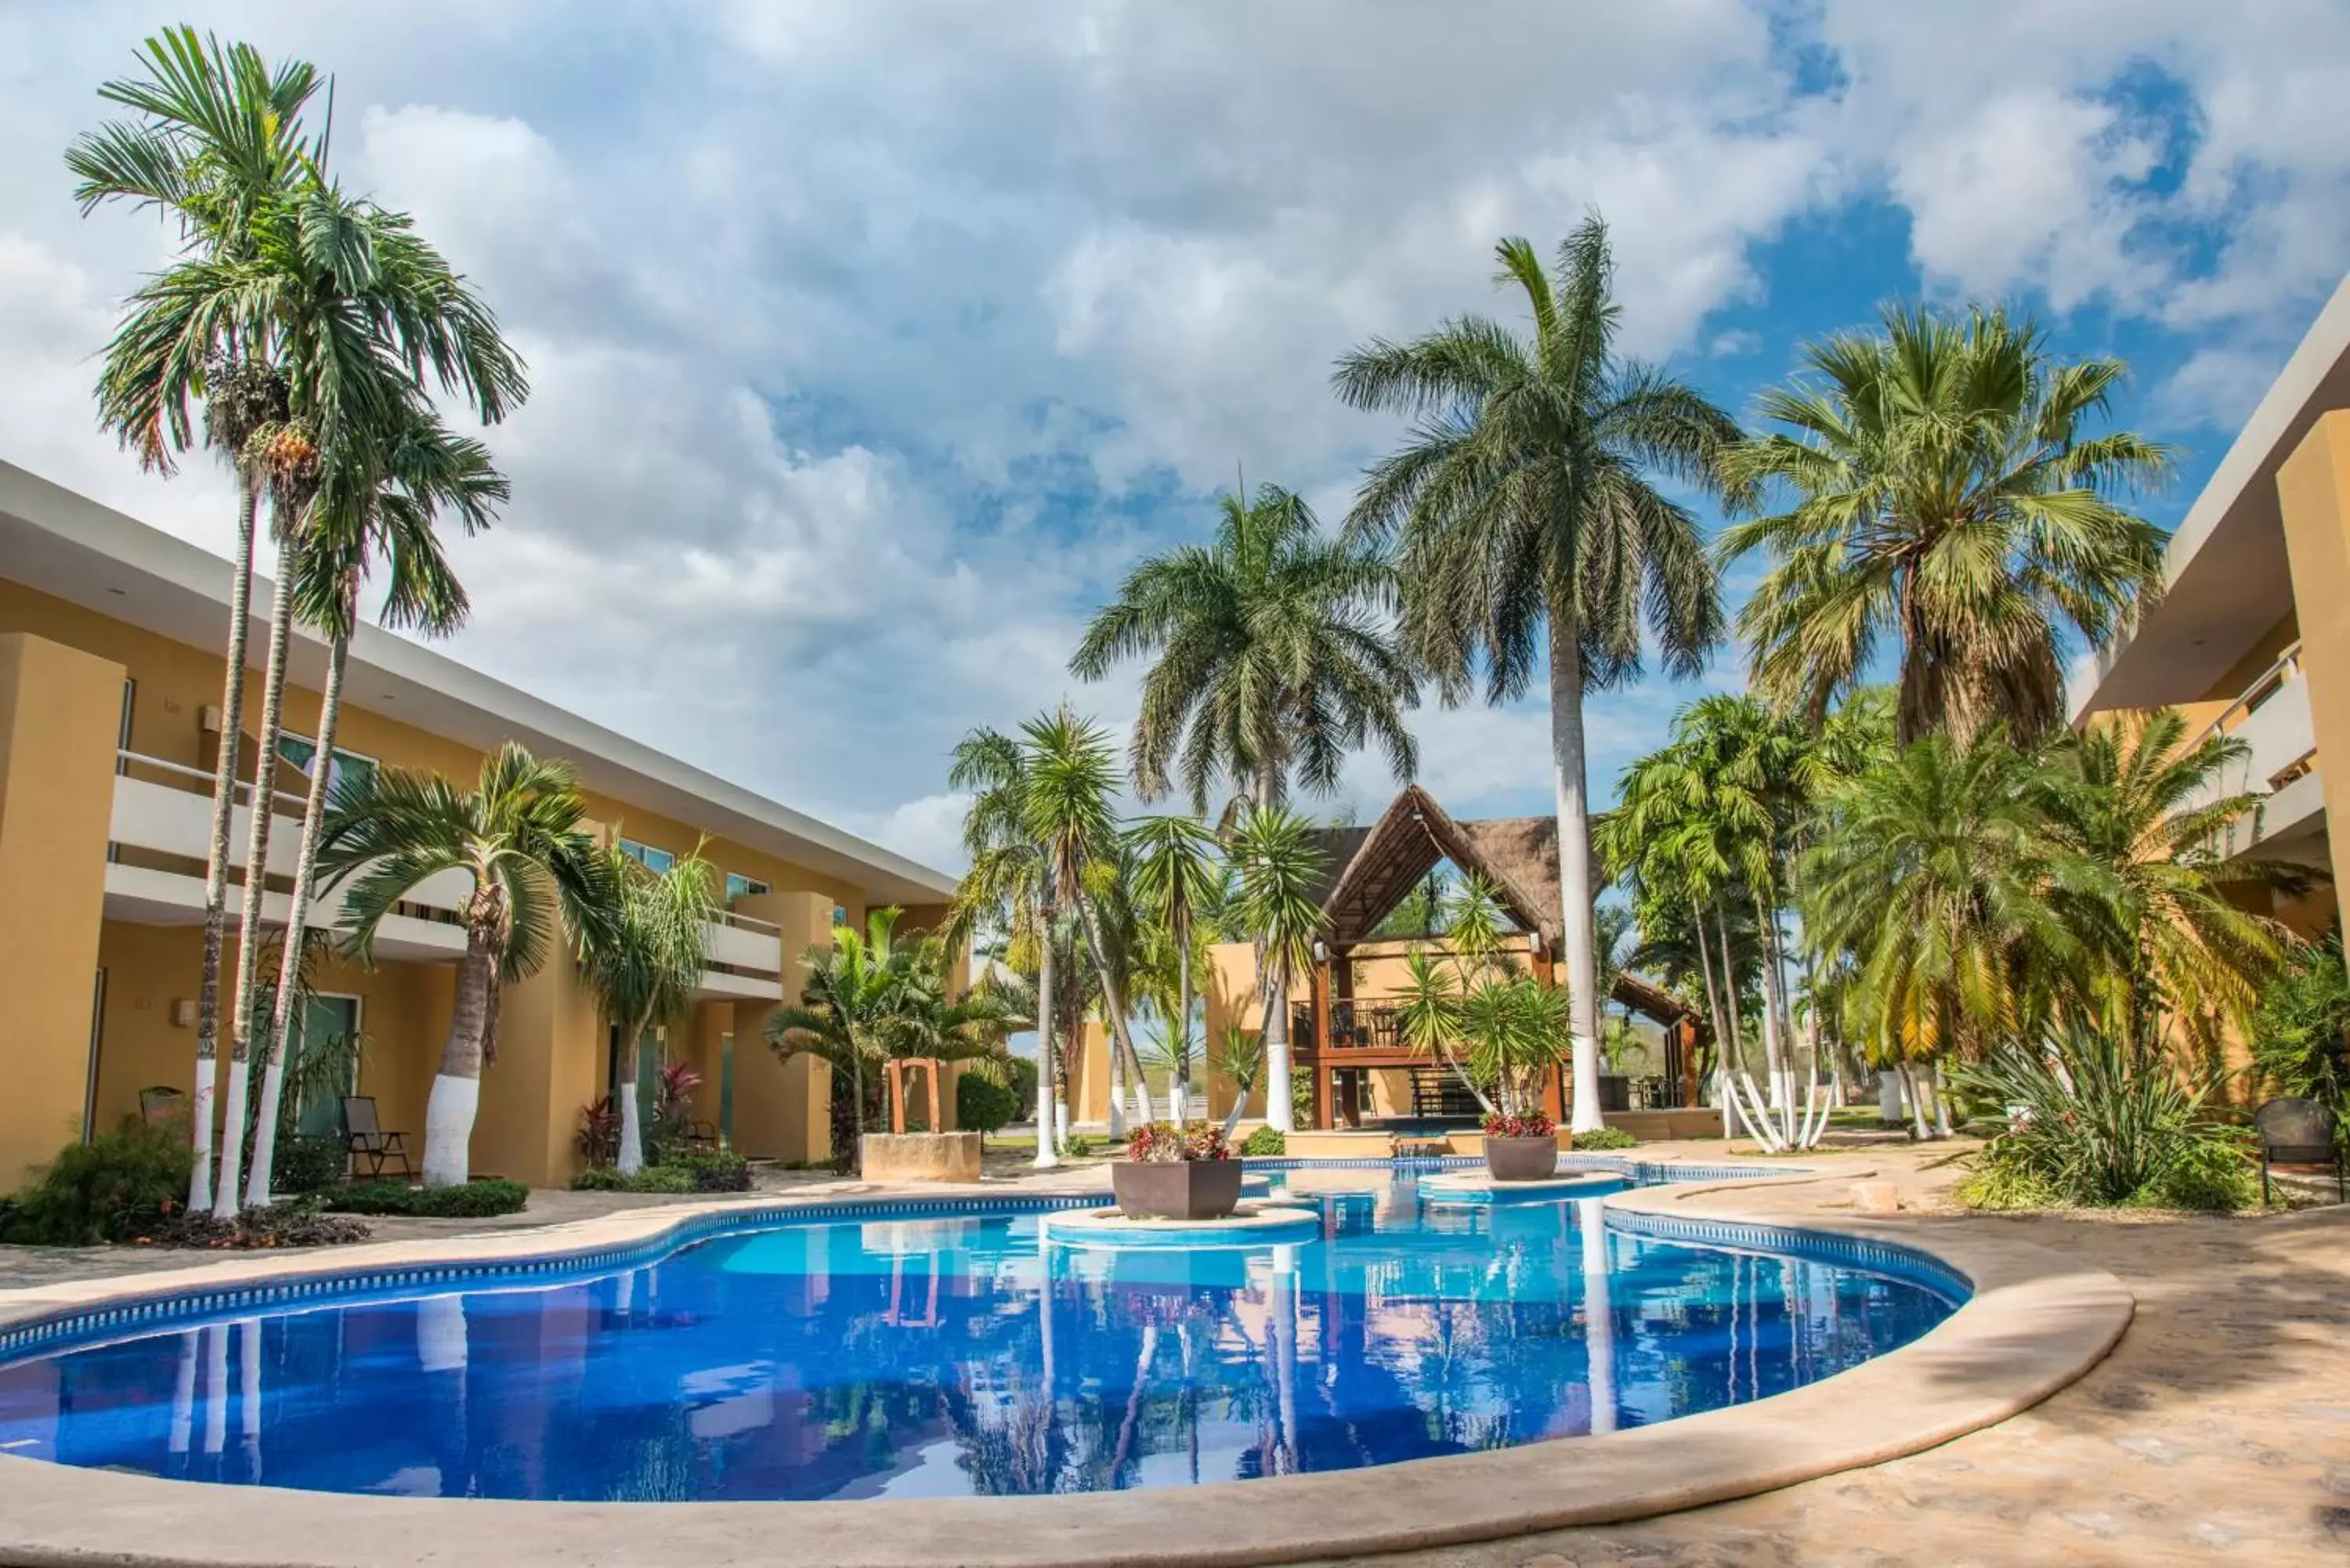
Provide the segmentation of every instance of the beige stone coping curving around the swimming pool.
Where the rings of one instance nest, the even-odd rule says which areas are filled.
[[[1629,1161],[1626,1161],[1629,1164]],[[1690,1166],[1680,1166],[1690,1171]],[[1800,1234],[1925,1255],[1972,1295],[1915,1342],[1772,1399],[1652,1427],[1365,1469],[1196,1488],[1055,1497],[853,1502],[505,1502],[371,1497],[164,1481],[0,1455],[0,1561],[14,1568],[423,1568],[496,1559],[508,1568],[625,1561],[689,1568],[1140,1568],[1285,1563],[1619,1523],[1878,1465],[2007,1420],[2096,1366],[2134,1300],[2108,1272],[1998,1232],[1807,1213],[1739,1213],[1741,1194],[1866,1171],[1701,1166],[1694,1180],[1605,1199],[1619,1229],[1723,1246]],[[1083,1190],[1041,1192],[1090,1199]],[[938,1190],[858,1194],[874,1208]],[[994,1206],[1010,1192],[973,1194]],[[540,1232],[390,1241],[327,1258],[233,1258],[195,1269],[0,1293],[0,1328],[61,1309],[120,1307],[190,1288],[345,1276],[369,1269],[522,1265],[632,1253],[733,1211],[834,1208],[841,1199],[674,1204]],[[961,1204],[956,1204],[961,1206]],[[1866,1248],[1866,1253],[1861,1251]],[[136,1324],[127,1324],[136,1328]]]

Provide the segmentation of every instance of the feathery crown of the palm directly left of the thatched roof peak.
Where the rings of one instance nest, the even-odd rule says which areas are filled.
[[[1386,628],[1394,571],[1328,538],[1278,484],[1220,496],[1215,543],[1154,555],[1104,604],[1069,670],[1102,679],[1152,658],[1130,745],[1135,790],[1180,783],[1208,811],[1222,778],[1257,804],[1292,783],[1328,795],[1347,755],[1377,743],[1396,778],[1417,766],[1403,710],[1419,701]]]

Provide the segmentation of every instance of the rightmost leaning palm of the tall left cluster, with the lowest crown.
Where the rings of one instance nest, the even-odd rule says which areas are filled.
[[[465,590],[442,555],[432,522],[442,508],[468,534],[489,527],[508,498],[505,475],[489,463],[489,449],[451,435],[437,418],[407,411],[385,437],[345,440],[334,454],[313,501],[310,548],[301,552],[303,576],[294,583],[294,614],[327,635],[327,679],[320,686],[317,736],[310,752],[310,790],[303,802],[301,842],[294,856],[294,889],[287,914],[282,964],[301,950],[317,882],[317,849],[327,830],[334,780],[334,738],[343,717],[343,672],[360,623],[360,583],[381,557],[385,564],[383,623],[444,637],[465,621]],[[268,1204],[275,1157],[277,1105],[284,1093],[287,1041],[296,1020],[294,987],[280,973],[275,1011],[261,1044],[261,1107],[256,1112],[254,1166],[244,1201]]]

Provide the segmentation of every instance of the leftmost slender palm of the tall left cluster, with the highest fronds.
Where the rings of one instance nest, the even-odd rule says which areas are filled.
[[[233,261],[251,252],[251,216],[284,200],[310,141],[303,108],[317,71],[289,61],[270,71],[247,45],[221,47],[193,28],[164,31],[141,47],[143,78],[106,82],[99,96],[134,110],[78,136],[66,153],[75,200],[87,216],[108,202],[155,207],[188,254]],[[254,581],[254,527],[261,463],[254,433],[287,416],[287,386],[268,362],[268,334],[237,310],[188,322],[164,310],[164,289],[143,289],[106,346],[99,418],[139,456],[169,475],[195,440],[190,404],[202,400],[202,435],[237,477],[237,548],[228,588],[228,658],[221,672],[221,748],[214,762],[212,842],[204,863],[204,957],[195,1006],[195,1168],[188,1201],[212,1206],[214,1060],[221,1030],[221,947],[228,926],[228,842],[235,811],[237,738],[244,719],[244,637]]]

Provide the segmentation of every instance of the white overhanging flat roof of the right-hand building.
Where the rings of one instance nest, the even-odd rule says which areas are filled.
[[[2211,470],[2162,562],[2162,602],[2094,661],[2075,715],[2200,701],[2294,609],[2277,470],[2329,409],[2350,407],[2350,277],[2317,313]]]

